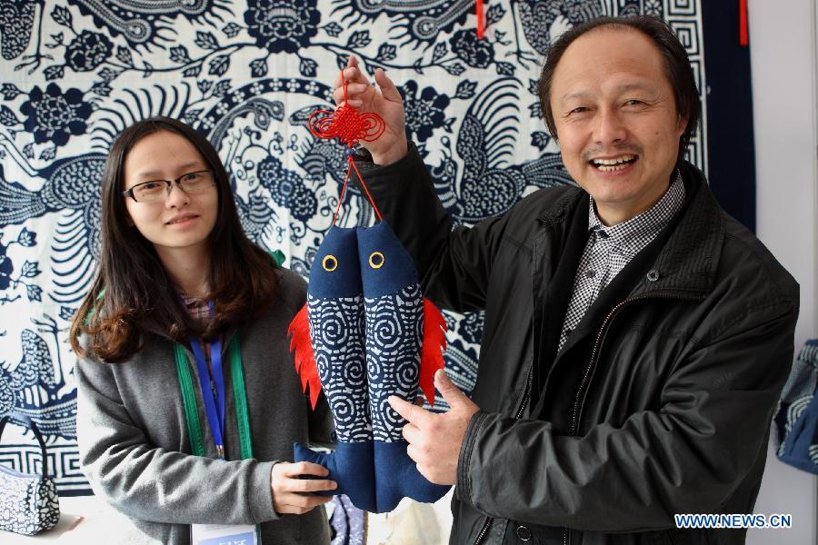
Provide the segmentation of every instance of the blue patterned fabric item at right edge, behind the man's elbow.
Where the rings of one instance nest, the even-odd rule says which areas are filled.
[[[818,473],[818,339],[793,363],[773,416],[776,455],[799,470]]]

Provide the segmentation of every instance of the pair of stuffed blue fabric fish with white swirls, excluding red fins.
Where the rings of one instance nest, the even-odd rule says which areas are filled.
[[[420,393],[424,298],[411,257],[380,222],[333,227],[315,263],[307,287],[310,337],[338,442],[329,454],[296,443],[295,461],[323,465],[338,483],[334,493],[359,509],[388,512],[404,497],[439,500],[449,487],[417,471],[402,435],[406,421],[388,403],[391,395],[414,401]],[[351,297],[355,292],[363,298]]]

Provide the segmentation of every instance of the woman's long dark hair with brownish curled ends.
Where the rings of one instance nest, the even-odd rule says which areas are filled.
[[[207,238],[211,290],[207,299],[214,302],[209,322],[190,317],[154,245],[126,221],[125,157],[139,140],[158,131],[184,136],[214,172],[218,215]],[[176,342],[185,342],[191,334],[210,338],[257,317],[274,299],[278,265],[244,234],[224,164],[203,135],[175,119],[152,117],[117,136],[102,174],[101,238],[94,283],[69,332],[71,346],[80,356],[90,352],[104,362],[122,362],[140,350],[146,335]],[[87,342],[80,342],[81,334]]]

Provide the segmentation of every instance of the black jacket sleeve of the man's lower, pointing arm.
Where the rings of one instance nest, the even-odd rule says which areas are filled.
[[[677,362],[658,411],[619,427],[574,437],[546,421],[476,413],[458,462],[459,497],[499,518],[612,532],[718,511],[763,463],[796,317],[797,302],[733,317]]]

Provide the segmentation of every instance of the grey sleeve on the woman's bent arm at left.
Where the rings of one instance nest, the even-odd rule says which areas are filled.
[[[256,524],[277,519],[274,461],[220,461],[152,447],[119,394],[114,364],[80,359],[77,442],[95,494],[125,515],[178,524]],[[185,422],[179,422],[185,429]]]

